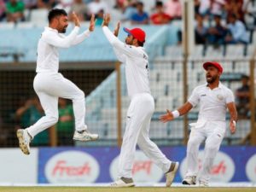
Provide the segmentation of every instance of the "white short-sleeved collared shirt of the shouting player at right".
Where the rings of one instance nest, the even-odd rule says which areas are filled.
[[[195,87],[189,102],[195,107],[200,105],[198,120],[224,121],[227,104],[235,102],[232,91],[219,82],[218,87],[211,90],[207,84]]]

